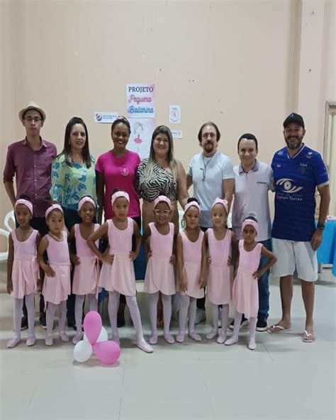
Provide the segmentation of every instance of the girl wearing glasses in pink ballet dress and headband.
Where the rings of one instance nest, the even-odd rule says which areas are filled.
[[[155,222],[149,223],[143,235],[147,255],[144,291],[150,294],[150,343],[157,344],[157,301],[162,293],[164,340],[174,343],[169,331],[172,317],[172,294],[175,294],[174,251],[177,228],[169,220],[172,203],[160,195],[154,201]]]

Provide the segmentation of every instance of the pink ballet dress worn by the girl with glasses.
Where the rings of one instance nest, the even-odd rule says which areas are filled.
[[[175,294],[174,265],[169,262],[173,253],[174,224],[169,223],[169,233],[162,235],[155,228],[155,223],[149,223],[150,249],[152,256],[147,262],[144,292]]]

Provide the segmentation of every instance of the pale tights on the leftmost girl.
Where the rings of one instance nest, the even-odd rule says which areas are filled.
[[[26,294],[26,307],[28,316],[28,340],[27,346],[33,346],[35,343],[35,295],[33,293]],[[14,336],[7,343],[7,347],[15,347],[21,340],[21,316],[22,316],[23,299],[14,298]]]

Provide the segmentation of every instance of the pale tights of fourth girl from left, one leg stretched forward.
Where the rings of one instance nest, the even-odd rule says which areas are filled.
[[[116,341],[118,344],[119,334],[117,328],[117,314],[119,307],[119,297],[120,294],[118,292],[108,292],[108,316],[110,318],[112,328],[112,340]],[[142,334],[142,325],[137,298],[135,296],[126,296],[125,298],[128,309],[130,309],[130,318],[132,319],[135,328],[137,343],[142,343],[142,341],[145,341],[145,339],[143,338]]]

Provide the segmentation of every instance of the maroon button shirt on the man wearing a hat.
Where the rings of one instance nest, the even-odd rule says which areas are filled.
[[[30,197],[35,217],[44,217],[50,206],[51,163],[56,155],[56,146],[43,139],[38,150],[30,148],[26,139],[9,146],[4,182],[13,182],[16,177],[16,197]]]

